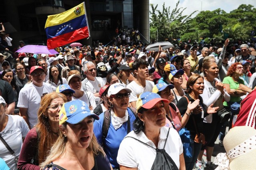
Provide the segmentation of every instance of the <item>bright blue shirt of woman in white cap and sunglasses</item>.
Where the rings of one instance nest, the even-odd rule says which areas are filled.
[[[134,114],[129,108],[127,108],[127,110],[128,110],[128,115],[130,117],[130,128],[132,131],[132,128],[133,128],[132,123],[136,119],[136,117],[134,116]],[[99,117],[100,117],[99,120],[94,121],[93,132],[98,140],[98,143],[102,145],[102,126],[103,126],[104,113],[100,114]],[[122,140],[126,135],[127,135],[127,121],[124,122],[123,125],[118,129],[114,129],[114,126],[110,121],[108,135],[105,139],[104,151],[113,169],[119,168],[119,164],[117,163],[116,158],[117,158],[120,143],[122,142]]]

